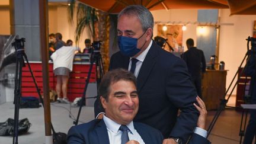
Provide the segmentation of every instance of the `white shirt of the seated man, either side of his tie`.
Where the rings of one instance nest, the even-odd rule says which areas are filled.
[[[119,130],[119,127],[121,124],[116,123],[115,121],[109,119],[105,115],[103,116],[103,120],[105,125],[107,126],[107,132],[108,132],[108,139],[110,140],[110,144],[119,144],[121,143],[121,130]],[[128,136],[129,140],[136,140],[140,144],[145,144],[142,137],[140,137],[139,133],[137,133],[137,130],[133,126],[133,121],[126,125],[128,130]]]

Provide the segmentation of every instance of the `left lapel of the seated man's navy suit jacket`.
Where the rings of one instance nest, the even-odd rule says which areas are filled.
[[[95,126],[95,132],[97,134],[99,144],[110,144],[104,120],[101,120],[100,123]]]

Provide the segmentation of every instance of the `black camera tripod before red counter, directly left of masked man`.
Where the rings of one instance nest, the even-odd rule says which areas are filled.
[[[101,78],[103,78],[103,75],[104,75],[103,59],[102,59],[102,56],[100,54],[100,44],[101,44],[100,41],[94,41],[94,43],[92,43],[90,66],[89,66],[87,79],[85,81],[84,92],[83,92],[82,100],[81,100],[82,103],[84,103],[84,101],[85,101],[85,95],[86,95],[86,92],[87,92],[89,79],[91,78],[91,73],[92,73],[92,68],[94,66],[94,63],[95,63],[95,69],[96,69],[97,90],[98,90],[98,86],[100,85]],[[97,91],[97,95],[98,95],[98,91]],[[97,96],[96,97],[87,97],[87,98],[97,98]],[[79,117],[80,117],[81,110],[82,110],[82,105],[83,105],[82,103],[80,104],[76,121],[73,121],[73,124],[75,124],[75,125],[77,125],[78,121],[79,121]]]

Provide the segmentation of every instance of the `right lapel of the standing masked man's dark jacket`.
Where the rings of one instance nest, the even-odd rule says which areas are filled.
[[[137,76],[137,91],[139,92],[148,79],[149,74],[153,66],[155,65],[155,57],[158,55],[158,46],[155,41],[153,41],[151,48],[149,49],[148,54],[145,57],[142,67],[140,68],[139,75]]]

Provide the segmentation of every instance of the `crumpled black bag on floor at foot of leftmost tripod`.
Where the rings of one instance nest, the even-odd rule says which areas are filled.
[[[18,121],[18,134],[27,133],[30,129],[31,123],[25,118]],[[7,119],[7,121],[0,123],[0,136],[14,135],[14,119]]]

